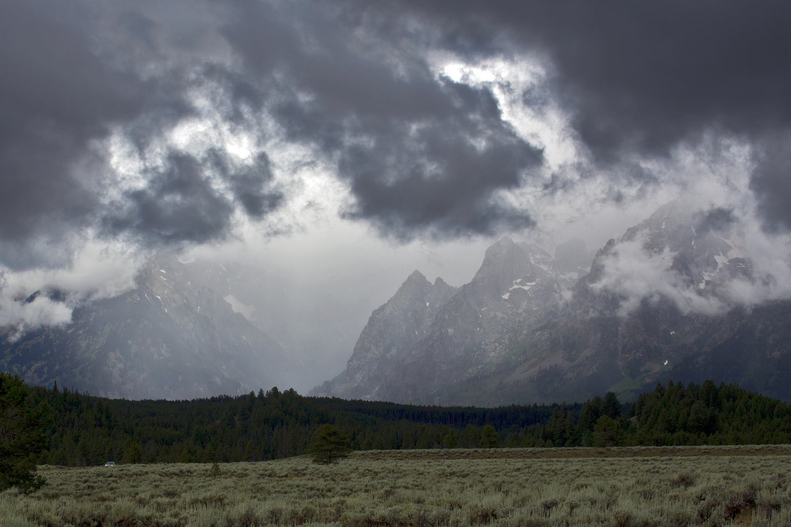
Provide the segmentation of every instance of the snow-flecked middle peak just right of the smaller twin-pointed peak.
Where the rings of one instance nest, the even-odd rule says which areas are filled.
[[[561,299],[565,282],[549,254],[503,237],[486,250],[475,277],[437,314],[426,338],[388,375],[377,397],[433,401],[492,371],[514,367],[520,356],[503,337],[536,325]]]

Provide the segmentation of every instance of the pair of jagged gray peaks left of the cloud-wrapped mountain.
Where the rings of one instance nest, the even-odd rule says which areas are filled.
[[[460,289],[439,277],[432,288],[415,271],[373,312],[346,371],[312,393],[405,400],[403,390],[420,396],[422,385],[444,375],[475,375],[483,361],[502,352],[499,345],[488,347],[492,336],[536,319],[573,283],[553,262],[536,244],[503,236]]]

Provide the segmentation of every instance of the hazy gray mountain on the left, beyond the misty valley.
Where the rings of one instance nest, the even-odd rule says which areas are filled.
[[[149,263],[136,288],[78,308],[73,321],[3,338],[2,369],[131,399],[240,394],[286,380],[282,347],[213,290],[191,284],[175,258]]]

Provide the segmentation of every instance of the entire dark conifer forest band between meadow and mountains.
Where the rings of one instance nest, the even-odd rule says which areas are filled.
[[[54,422],[40,464],[262,461],[305,454],[331,423],[354,450],[479,446],[664,446],[791,442],[789,405],[736,385],[668,382],[623,405],[460,408],[304,397],[294,390],[193,401],[105,399],[36,386]],[[494,433],[493,433],[494,432]]]

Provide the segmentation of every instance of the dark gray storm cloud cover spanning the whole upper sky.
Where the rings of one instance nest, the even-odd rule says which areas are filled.
[[[559,101],[614,173],[706,132],[751,141],[752,188],[769,223],[789,225],[789,14],[783,2],[2,2],[0,243],[25,266],[29,240],[87,226],[202,243],[237,211],[265,221],[287,195],[265,154],[240,168],[222,145],[165,149],[165,168],[109,205],[94,184],[110,169],[92,140],[122,126],[144,152],[195,114],[191,90],[210,82],[229,126],[255,132],[268,115],[286,141],[336,162],[352,193],[343,214],[385,235],[529,226],[498,191],[543,154],[488,89],[437,77],[425,53],[442,48],[473,62],[543,57],[549,80],[522,100]]]

